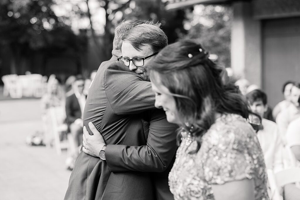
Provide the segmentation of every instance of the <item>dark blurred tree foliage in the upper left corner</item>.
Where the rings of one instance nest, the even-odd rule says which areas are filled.
[[[64,17],[52,10],[53,0],[1,0],[0,44],[12,51],[11,73],[18,73],[22,57],[32,51],[49,53],[84,49],[85,38],[77,37]]]

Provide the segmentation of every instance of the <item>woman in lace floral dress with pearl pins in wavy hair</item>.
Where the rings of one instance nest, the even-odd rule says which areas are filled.
[[[247,121],[256,114],[208,55],[199,43],[182,40],[147,69],[155,106],[180,126],[170,190],[174,199],[269,199],[263,153]]]

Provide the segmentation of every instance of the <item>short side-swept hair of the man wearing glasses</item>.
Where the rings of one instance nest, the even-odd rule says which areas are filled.
[[[128,34],[125,34],[122,37],[122,41],[128,41],[138,51],[141,50],[141,46],[150,45],[153,52],[159,52],[167,46],[168,37],[156,25],[141,24],[132,28]]]

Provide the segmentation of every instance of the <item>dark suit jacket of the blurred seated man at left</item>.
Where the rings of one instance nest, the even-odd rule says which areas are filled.
[[[81,110],[76,95],[73,93],[66,98],[66,122],[68,126],[81,118]]]

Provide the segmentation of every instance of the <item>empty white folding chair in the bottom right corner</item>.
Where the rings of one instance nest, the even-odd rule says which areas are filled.
[[[300,190],[300,168],[284,169],[276,173],[274,173],[273,170],[268,169],[268,182],[271,189],[271,200],[283,199],[282,196],[280,196],[279,191],[281,190],[281,187],[286,184],[295,183],[295,186],[299,187]]]

